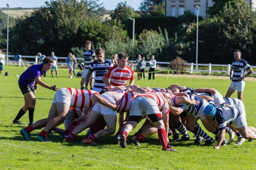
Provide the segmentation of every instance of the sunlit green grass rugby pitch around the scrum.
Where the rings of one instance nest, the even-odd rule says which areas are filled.
[[[255,169],[256,142],[246,142],[241,146],[226,145],[220,150],[211,146],[194,146],[194,138],[187,142],[170,143],[176,152],[162,151],[157,135],[145,138],[147,143],[142,147],[136,147],[130,142],[131,136],[140,128],[141,123],[128,135],[126,149],[118,145],[112,145],[114,135],[105,137],[105,140],[97,140],[99,146],[85,146],[81,143],[62,143],[59,135],[53,134],[50,141],[42,143],[36,141],[36,136],[42,129],[31,133],[32,141],[24,141],[20,135],[20,129],[26,125],[13,125],[12,120],[24,105],[24,99],[18,87],[19,77],[24,72],[23,67],[4,66],[4,72],[9,76],[0,76],[0,169]],[[55,76],[55,73],[54,73]],[[80,88],[80,78],[68,78],[67,69],[59,69],[59,78],[51,77],[50,71],[42,80],[58,88]],[[146,75],[148,77],[148,75]],[[171,84],[180,84],[192,88],[216,88],[223,96],[230,85],[227,76],[184,76],[170,74],[157,74],[156,81],[138,81],[140,86],[166,88]],[[256,127],[256,88],[255,78],[246,81],[244,90],[244,105],[248,125]],[[54,92],[38,86],[36,90],[36,108],[34,121],[46,118],[50,109]],[[237,97],[234,94],[232,97]],[[21,119],[28,123],[28,113]],[[201,127],[202,123],[199,121]],[[60,125],[64,128],[64,125]],[[204,128],[203,128],[204,129]],[[204,129],[205,130],[205,129]],[[206,130],[205,130],[206,131]],[[77,136],[81,141],[85,131]],[[188,132],[190,137],[193,136]],[[208,135],[214,135],[208,132]],[[228,134],[226,134],[228,138]],[[235,137],[236,141],[236,137]]]

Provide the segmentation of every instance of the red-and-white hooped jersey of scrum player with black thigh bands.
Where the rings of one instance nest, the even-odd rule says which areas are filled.
[[[154,99],[156,101],[156,104],[158,105],[159,110],[168,114],[170,112],[170,108],[164,97],[170,97],[171,99],[174,98],[173,94],[169,94],[166,92],[146,92],[143,94],[139,94],[137,97],[139,96],[145,96]]]

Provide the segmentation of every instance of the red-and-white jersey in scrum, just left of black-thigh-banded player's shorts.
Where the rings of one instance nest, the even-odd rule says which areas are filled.
[[[127,112],[131,109],[132,101],[138,96],[140,93],[131,93],[125,92],[123,97],[121,98],[121,102],[118,104],[118,109],[116,112]]]

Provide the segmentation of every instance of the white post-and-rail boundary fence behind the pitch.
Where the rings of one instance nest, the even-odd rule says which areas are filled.
[[[14,55],[9,55],[6,56],[6,59],[8,59],[8,57],[14,57]],[[39,57],[38,56],[27,56],[27,55],[20,55],[20,58],[34,58],[35,61],[23,61],[23,63],[30,63],[30,64],[37,64]],[[67,57],[58,57],[58,59],[64,59],[66,60]],[[21,59],[19,61],[5,61],[6,64],[8,63],[18,63],[18,65],[21,65]],[[84,60],[84,58],[76,58],[77,60]],[[133,63],[136,63],[136,61],[132,61]],[[146,63],[149,63],[148,61],[146,61]],[[67,65],[67,63],[60,63],[58,62],[58,64],[63,64],[63,65]],[[168,66],[170,63],[169,62],[161,62],[161,61],[157,61],[157,64],[166,64],[166,66]],[[132,69],[134,70],[134,65],[132,65]],[[194,67],[196,66],[196,64],[194,63],[187,63],[188,66],[190,66],[190,69],[187,69],[186,71],[190,71],[190,74],[192,74],[193,72],[196,72],[196,70],[194,70]],[[231,65],[230,64],[198,64],[198,66],[208,66],[208,70],[197,70],[198,72],[208,72],[208,74],[211,74],[212,72],[220,72],[220,73],[226,73],[227,75],[230,74],[230,68]],[[227,70],[212,70],[212,66],[219,66],[219,67],[227,67]],[[256,68],[256,66],[251,66],[252,68]],[[146,67],[149,68],[149,67]],[[160,67],[158,69],[162,69],[162,70],[170,70],[170,68],[166,68],[166,67]],[[254,72],[253,74],[256,74],[256,72]]]

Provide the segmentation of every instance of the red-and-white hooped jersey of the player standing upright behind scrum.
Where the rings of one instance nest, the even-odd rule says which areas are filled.
[[[132,68],[126,66],[121,69],[118,64],[108,68],[104,76],[110,78],[110,83],[114,86],[126,86],[128,80],[134,79]]]

